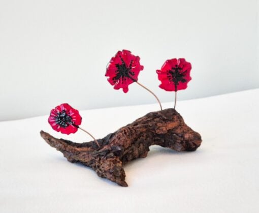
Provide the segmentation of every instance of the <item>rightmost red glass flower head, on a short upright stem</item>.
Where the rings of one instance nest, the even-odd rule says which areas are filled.
[[[190,77],[191,64],[184,58],[166,60],[161,70],[156,70],[161,81],[160,88],[167,91],[177,91],[187,88]]]

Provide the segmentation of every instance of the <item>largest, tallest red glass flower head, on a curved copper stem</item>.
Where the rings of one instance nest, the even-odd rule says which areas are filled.
[[[140,65],[140,57],[135,56],[128,50],[118,51],[111,58],[105,76],[108,76],[108,81],[114,85],[114,89],[122,88],[124,93],[128,92],[128,85],[138,81],[138,75],[144,69]]]

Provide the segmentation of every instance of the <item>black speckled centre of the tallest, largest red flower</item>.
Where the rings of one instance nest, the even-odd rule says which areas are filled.
[[[131,60],[131,64],[130,64],[130,66],[126,66],[126,64],[125,64],[125,62],[124,62],[124,60],[123,60],[123,58],[121,57],[121,56],[119,56],[120,57],[120,60],[121,60],[121,63],[122,64],[116,64],[115,66],[116,66],[116,68],[117,68],[117,70],[116,70],[116,76],[115,77],[113,77],[113,81],[114,81],[114,83],[116,83],[120,78],[122,79],[122,80],[126,80],[126,78],[130,78],[130,79],[132,79],[133,81],[136,81],[132,76],[134,76],[135,75],[135,73],[134,72],[132,72],[132,63],[133,63],[133,60]]]

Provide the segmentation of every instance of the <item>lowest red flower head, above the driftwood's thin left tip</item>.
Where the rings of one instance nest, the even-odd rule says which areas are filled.
[[[48,121],[53,130],[69,135],[77,132],[82,117],[69,104],[60,104],[50,111]]]

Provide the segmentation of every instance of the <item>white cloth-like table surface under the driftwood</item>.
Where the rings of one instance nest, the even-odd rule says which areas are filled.
[[[100,138],[158,109],[85,110],[81,127]],[[83,132],[54,132],[47,115],[1,122],[0,212],[259,212],[259,89],[179,101],[177,110],[202,145],[190,153],[150,147],[124,167],[127,188],[68,162],[39,133],[90,140]]]

